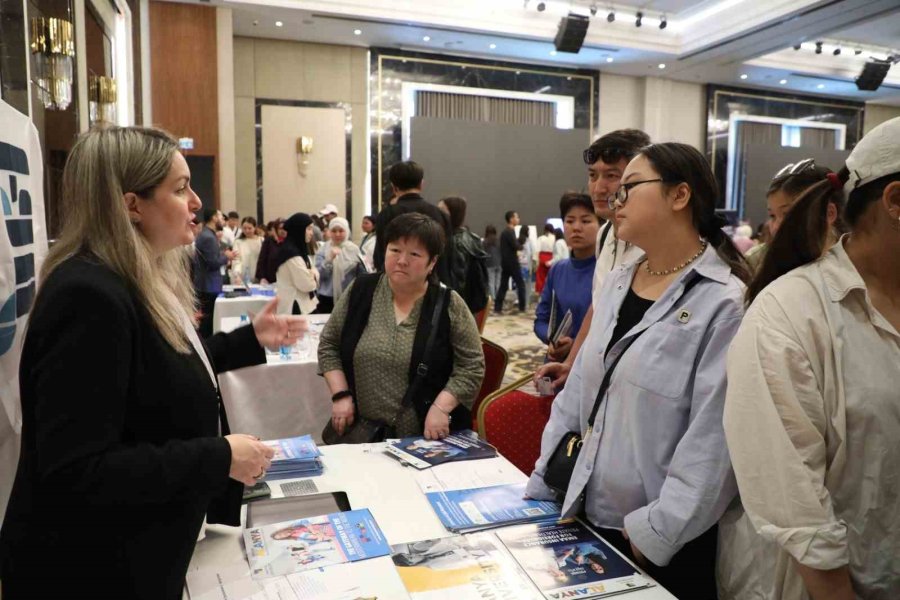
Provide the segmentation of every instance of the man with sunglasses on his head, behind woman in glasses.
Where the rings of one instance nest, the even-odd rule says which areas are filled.
[[[591,329],[594,306],[606,274],[619,265],[633,262],[640,258],[643,251],[616,237],[616,213],[611,202],[619,190],[622,173],[638,151],[650,145],[650,136],[639,129],[619,129],[597,138],[590,148],[584,151],[584,163],[588,167],[588,190],[594,212],[606,223],[597,234],[597,266],[594,268],[592,285],[592,302],[582,321],[578,335],[571,342],[572,349],[563,362],[551,362],[543,365],[535,373],[535,380],[550,377],[554,389],[560,389],[569,377],[569,371],[575,363],[578,351]],[[558,349],[551,350],[555,351]]]

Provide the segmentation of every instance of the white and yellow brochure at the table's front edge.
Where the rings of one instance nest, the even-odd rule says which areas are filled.
[[[541,599],[489,533],[396,544],[391,558],[412,600]]]

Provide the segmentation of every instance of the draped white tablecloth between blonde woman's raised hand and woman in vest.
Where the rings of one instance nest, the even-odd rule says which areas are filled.
[[[216,302],[218,306],[218,302]],[[267,353],[267,363],[219,375],[219,388],[234,433],[262,439],[311,434],[321,442],[322,429],[331,418],[331,392],[319,377],[316,352],[318,333],[328,315],[307,315],[311,334],[298,344],[291,360]],[[222,330],[231,331],[240,317],[226,317]]]

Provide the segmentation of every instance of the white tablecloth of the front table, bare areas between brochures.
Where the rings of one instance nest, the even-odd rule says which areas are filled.
[[[519,483],[525,475],[505,458],[497,457],[462,463],[450,463],[418,471],[404,467],[384,454],[379,444],[326,446],[322,448],[325,473],[313,479],[320,492],[346,492],[354,509],[368,508],[391,544],[401,544],[452,535],[444,529],[422,492],[421,482],[437,476],[442,480],[465,478],[485,484]],[[272,497],[283,496],[279,484],[269,482]],[[243,515],[242,515],[243,517]],[[190,570],[226,568],[245,561],[241,529],[224,525],[207,527],[206,538],[197,543]],[[379,561],[379,573],[392,576],[390,557]],[[674,600],[674,596],[656,586],[622,595],[623,600]]]

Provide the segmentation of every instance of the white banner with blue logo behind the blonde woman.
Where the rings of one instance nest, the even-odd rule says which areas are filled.
[[[0,227],[0,420],[8,419],[19,434],[19,358],[37,276],[47,254],[44,169],[31,120],[2,100],[0,211],[4,222]]]

